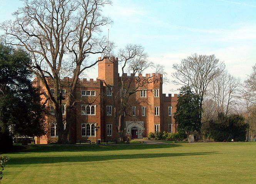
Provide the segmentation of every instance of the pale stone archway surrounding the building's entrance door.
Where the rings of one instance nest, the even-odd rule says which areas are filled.
[[[126,133],[130,135],[130,137],[134,137],[134,139],[142,139],[143,131],[144,131],[144,122],[143,121],[126,121]],[[136,134],[137,136],[134,136]],[[133,131],[133,134],[132,134]],[[133,136],[132,136],[133,135]]]

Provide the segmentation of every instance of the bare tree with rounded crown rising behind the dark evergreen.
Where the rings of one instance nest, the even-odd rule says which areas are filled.
[[[176,72],[172,73],[173,81],[177,85],[191,86],[194,92],[200,97],[200,107],[206,94],[209,83],[215,79],[225,68],[223,62],[216,59],[215,55],[193,54],[181,63],[173,64]],[[202,111],[200,113],[202,119]]]

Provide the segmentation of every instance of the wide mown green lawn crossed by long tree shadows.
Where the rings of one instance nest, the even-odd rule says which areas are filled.
[[[30,145],[2,184],[256,183],[256,143]]]

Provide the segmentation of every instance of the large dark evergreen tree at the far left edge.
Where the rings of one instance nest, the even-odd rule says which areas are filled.
[[[31,62],[23,50],[0,44],[0,147],[6,148],[9,135],[41,136],[46,133],[47,114],[39,90],[32,86]]]

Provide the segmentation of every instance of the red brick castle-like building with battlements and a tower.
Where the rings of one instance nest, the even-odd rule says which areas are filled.
[[[124,74],[124,77],[128,79],[129,75]],[[142,80],[152,77],[155,82],[144,85],[139,89],[142,91],[131,95],[129,99],[131,107],[128,108],[131,111],[131,116],[125,117],[125,132],[134,139],[147,137],[149,132],[176,132],[173,113],[176,111],[177,94],[173,96],[162,94],[162,74],[146,74],[145,77],[142,75],[139,77]],[[65,80],[68,81],[69,78],[65,77]],[[112,95],[119,94],[119,83],[118,62],[114,57],[104,58],[98,63],[97,80],[79,80],[73,94],[76,99],[76,110],[69,134],[69,139],[72,142],[96,141],[96,137],[101,142],[117,139],[114,112],[118,107],[114,107]],[[112,90],[109,90],[105,84],[111,85]],[[40,81],[37,81],[37,86],[41,86]],[[54,91],[52,90],[52,92]],[[47,102],[47,105],[51,105],[50,101]],[[65,100],[62,102],[62,111],[65,119]],[[37,144],[57,141],[56,124],[47,120],[46,122],[49,133],[43,137],[37,137]],[[96,126],[99,127],[97,131],[95,130]]]

